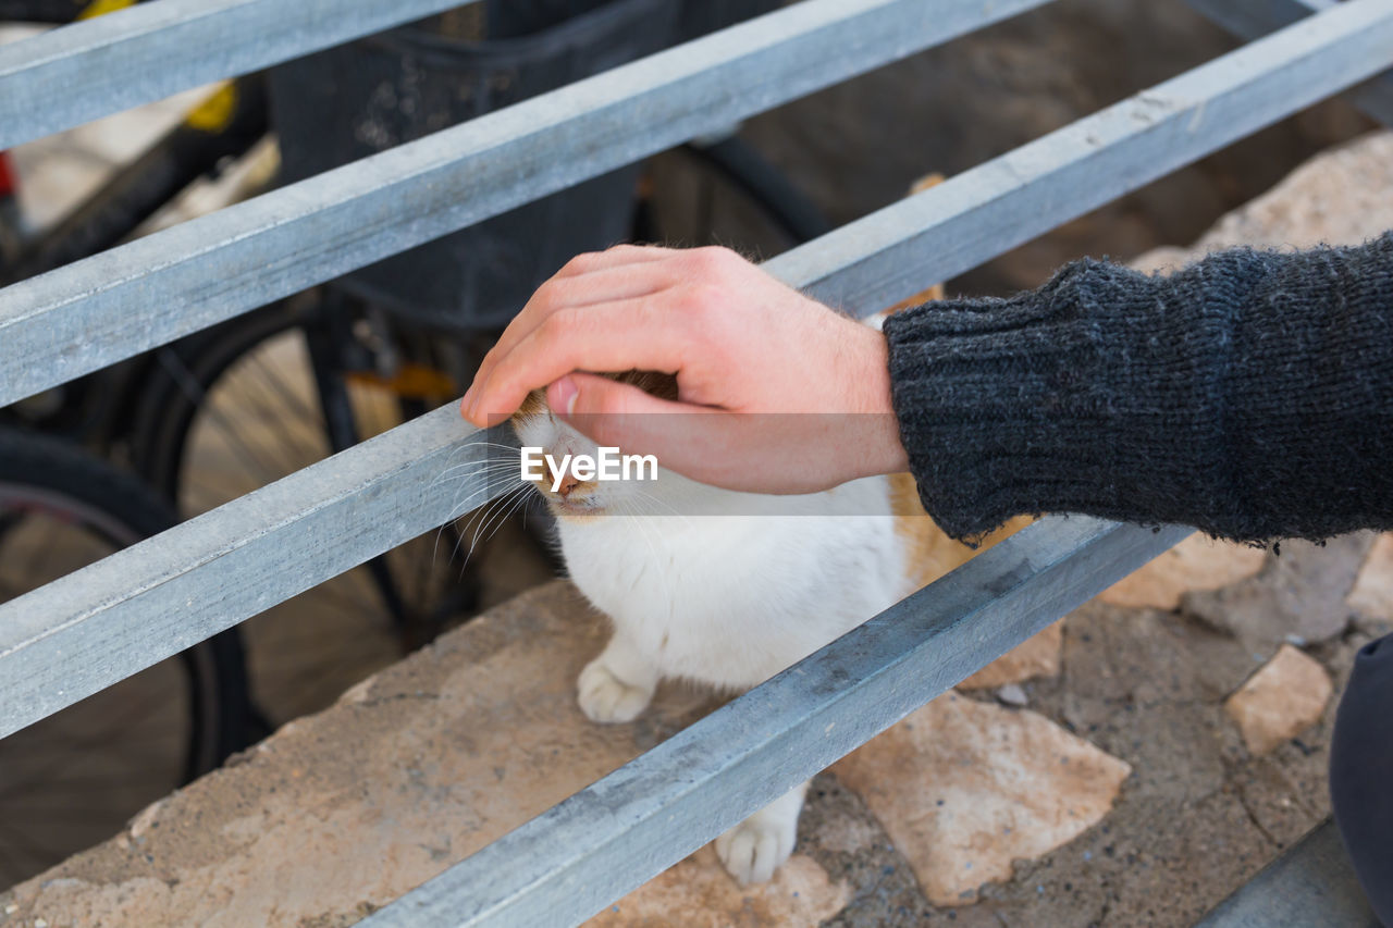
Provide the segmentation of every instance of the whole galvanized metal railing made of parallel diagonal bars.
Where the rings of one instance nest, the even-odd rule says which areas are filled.
[[[1045,1],[802,0],[15,284],[0,291],[0,404]],[[1234,28],[1250,31],[1329,6],[1191,1],[1248,10]],[[156,0],[15,43],[0,49],[0,145],[450,3],[387,6]],[[185,54],[215,36],[220,54]],[[766,268],[869,312],[1389,67],[1393,0],[1350,0]],[[141,77],[64,95],[93,72]],[[1389,86],[1361,100],[1387,106]],[[85,102],[36,117],[25,93]],[[482,479],[436,479],[482,454],[478,438],[437,410],[0,606],[0,737],[429,531],[461,492],[482,504]],[[1187,531],[1042,520],[366,924],[584,918]]]

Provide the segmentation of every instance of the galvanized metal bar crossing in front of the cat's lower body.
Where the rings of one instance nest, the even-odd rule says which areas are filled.
[[[1046,518],[359,924],[577,924],[1188,534]]]

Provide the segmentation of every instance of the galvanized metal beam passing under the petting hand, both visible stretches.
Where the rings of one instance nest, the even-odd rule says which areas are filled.
[[[765,266],[879,309],[1389,57],[1393,3],[1353,0]],[[437,410],[0,605],[0,737],[439,525],[482,488],[436,482],[478,438]]]

